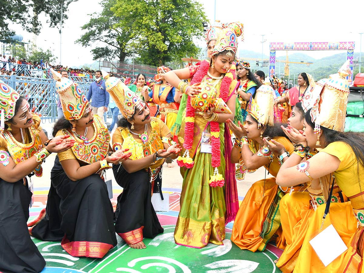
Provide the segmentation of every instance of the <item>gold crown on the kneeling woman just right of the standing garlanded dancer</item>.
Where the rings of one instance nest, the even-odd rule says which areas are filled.
[[[256,91],[255,99],[251,98],[248,104],[248,113],[258,121],[258,128],[261,125],[273,126],[274,103],[273,88],[269,85],[268,77]]]

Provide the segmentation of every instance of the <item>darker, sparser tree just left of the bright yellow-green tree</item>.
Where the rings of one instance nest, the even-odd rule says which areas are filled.
[[[117,26],[123,19],[110,10],[115,4],[115,0],[102,2],[102,12],[91,15],[90,21],[82,27],[86,33],[76,40],[76,43],[84,47],[96,44],[91,50],[94,60],[113,60],[116,57],[124,62],[135,53],[131,23],[125,22],[123,27]]]

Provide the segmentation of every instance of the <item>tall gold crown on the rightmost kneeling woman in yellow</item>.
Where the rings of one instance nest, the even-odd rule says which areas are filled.
[[[310,115],[316,130],[320,126],[343,132],[345,129],[346,107],[349,96],[349,83],[346,77],[350,75],[350,63],[347,60],[339,69],[338,74],[332,75],[325,82]]]

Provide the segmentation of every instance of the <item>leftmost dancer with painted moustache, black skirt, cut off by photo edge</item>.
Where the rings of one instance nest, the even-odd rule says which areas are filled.
[[[40,177],[42,161],[74,141],[68,135],[49,141],[27,100],[3,82],[0,110],[0,272],[41,272],[46,262],[28,233],[32,193],[25,177]]]

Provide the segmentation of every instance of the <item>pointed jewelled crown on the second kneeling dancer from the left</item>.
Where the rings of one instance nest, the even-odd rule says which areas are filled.
[[[53,79],[56,81],[56,91],[61,101],[64,118],[67,120],[77,120],[82,118],[83,112],[89,104],[86,96],[77,83],[62,77],[57,71],[50,68]]]

